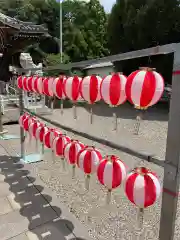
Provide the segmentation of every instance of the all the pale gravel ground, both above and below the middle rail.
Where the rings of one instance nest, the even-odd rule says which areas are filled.
[[[60,115],[58,109],[54,110],[50,117],[53,121],[72,127],[76,130],[87,132],[93,136],[99,136],[123,146],[128,146],[140,152],[154,153],[157,158],[164,160],[166,135],[167,135],[167,109],[153,108],[144,116],[141,124],[140,134],[133,135],[133,124],[136,116],[134,109],[122,107],[115,109],[118,115],[118,131],[112,131],[111,108],[103,105],[94,106],[94,124],[89,124],[89,112],[83,107],[78,107],[78,119],[74,120],[72,109],[65,109],[64,115]],[[49,116],[48,116],[49,117]],[[103,123],[103,124],[102,124]],[[8,128],[8,127],[7,127]],[[17,133],[18,126],[9,127],[11,133]],[[111,149],[102,144],[92,142],[70,132],[63,131],[71,138],[78,139],[87,145],[96,146],[103,155],[118,155],[129,167],[146,166],[155,171],[162,183],[163,168],[144,162],[141,159],[128,155],[124,152]],[[18,140],[11,141],[11,147],[20,151]],[[27,148],[26,148],[27,149]],[[31,150],[30,150],[31,149]],[[28,146],[28,152],[34,151],[34,146]],[[84,189],[84,175],[76,169],[76,178],[72,179],[71,168],[66,165],[63,170],[61,159],[55,163],[51,159],[51,153],[46,152],[43,162],[33,164],[36,174],[42,179],[46,186],[52,188],[59,201],[66,204],[70,211],[87,227],[89,234],[96,240],[157,240],[159,232],[159,220],[161,210],[161,198],[152,207],[145,210],[144,225],[142,232],[137,226],[138,209],[125,197],[123,186],[113,191],[112,202],[109,206],[105,204],[106,189],[101,186],[96,176],[91,178],[90,190]],[[179,204],[179,202],[178,202]],[[177,213],[175,240],[179,239],[180,211]]]

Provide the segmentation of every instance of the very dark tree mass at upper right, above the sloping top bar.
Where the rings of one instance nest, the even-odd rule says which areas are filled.
[[[180,41],[179,0],[117,0],[108,22],[112,53]]]

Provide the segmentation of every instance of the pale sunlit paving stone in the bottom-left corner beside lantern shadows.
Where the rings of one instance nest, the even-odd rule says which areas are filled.
[[[0,216],[0,239],[7,240],[28,230],[29,221],[18,211]]]

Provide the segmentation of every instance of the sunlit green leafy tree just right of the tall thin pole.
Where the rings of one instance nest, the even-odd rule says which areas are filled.
[[[64,49],[72,61],[108,54],[107,17],[98,0],[63,2]]]

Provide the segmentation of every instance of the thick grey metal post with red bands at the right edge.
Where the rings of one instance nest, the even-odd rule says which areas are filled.
[[[174,239],[180,184],[180,49],[174,58],[176,65],[173,69],[159,240]]]

